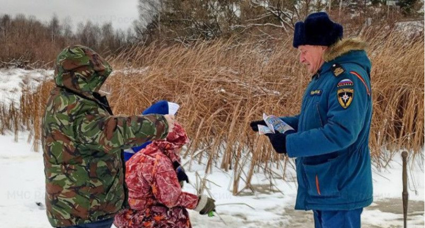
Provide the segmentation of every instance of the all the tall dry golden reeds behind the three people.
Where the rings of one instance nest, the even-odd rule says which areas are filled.
[[[423,34],[406,39],[403,34],[377,30],[363,36],[370,43],[372,61],[374,163],[385,166],[391,159],[391,153],[382,153],[384,149],[408,149],[423,156]],[[177,120],[191,138],[183,153],[190,158],[188,169],[194,163],[204,163],[207,171],[213,166],[233,169],[235,195],[253,191],[250,182],[258,171],[288,178],[292,161],[274,153],[266,137],[250,131],[249,122],[261,119],[263,112],[277,116],[299,112],[310,77],[297,62],[291,39],[267,44],[219,40],[190,48],[152,44],[109,60],[118,70],[102,89],[111,93],[115,114],[137,114],[160,99],[181,104]],[[24,90],[17,112],[15,122],[35,129],[36,142],[52,87],[46,82],[35,92]],[[10,113],[12,109],[0,109],[0,120],[8,126],[14,123],[7,116]]]

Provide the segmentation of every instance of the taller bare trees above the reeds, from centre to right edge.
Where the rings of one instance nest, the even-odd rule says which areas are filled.
[[[351,31],[365,24],[423,19],[420,0],[139,0],[137,37],[181,42],[255,35],[261,40],[291,36],[294,24],[312,12],[326,11]]]

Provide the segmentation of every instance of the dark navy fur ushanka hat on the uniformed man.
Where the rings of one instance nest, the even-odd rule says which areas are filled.
[[[295,23],[293,47],[300,45],[330,46],[343,39],[343,26],[329,19],[325,12],[312,13],[305,21]]]

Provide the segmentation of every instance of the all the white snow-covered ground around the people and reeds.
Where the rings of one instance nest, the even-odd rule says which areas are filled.
[[[51,77],[53,71],[24,71],[0,69],[0,99],[19,96],[19,84],[23,80]],[[25,75],[29,75],[28,77]],[[31,75],[34,75],[33,77]],[[37,77],[38,75],[38,77]],[[34,80],[34,82],[36,82]],[[28,133],[0,135],[0,228],[2,227],[50,227],[44,206],[45,179],[43,154],[32,151]],[[188,167],[185,167],[188,169]],[[424,171],[423,159],[409,163],[409,227],[424,226]],[[202,165],[191,166],[188,176],[192,183],[196,173],[204,176]],[[401,158],[395,155],[387,169],[373,170],[374,203],[362,214],[362,227],[402,227]],[[213,169],[207,175],[207,186],[216,200],[217,216],[207,217],[190,211],[194,227],[313,227],[311,211],[293,210],[296,183],[274,180],[273,193],[267,187],[270,181],[263,174],[256,174],[252,184],[253,195],[233,196],[231,192],[233,171]],[[215,183],[215,184],[214,184]],[[217,184],[217,185],[216,185]],[[195,193],[195,187],[186,184],[184,191]]]

